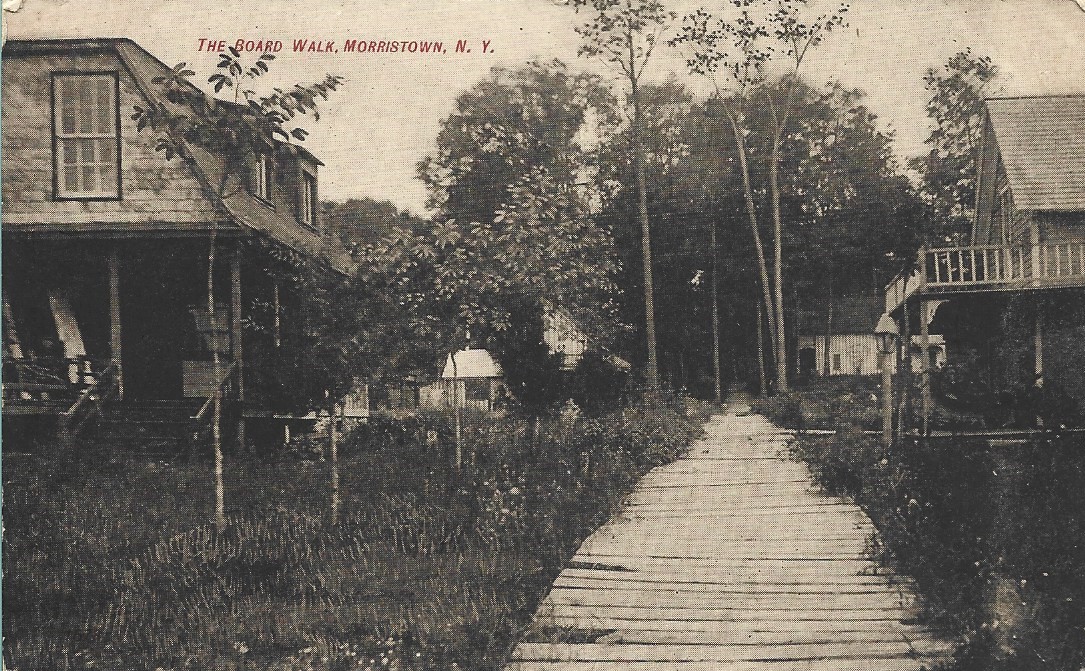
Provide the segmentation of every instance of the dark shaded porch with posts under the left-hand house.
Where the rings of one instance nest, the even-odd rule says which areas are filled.
[[[221,390],[240,407],[242,248],[231,238],[216,245],[212,315],[208,242],[5,239],[5,418],[53,416],[75,434],[108,404],[168,404],[195,417]]]

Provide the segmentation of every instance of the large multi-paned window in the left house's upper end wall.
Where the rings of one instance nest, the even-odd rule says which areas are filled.
[[[56,195],[120,198],[117,76],[53,75]]]

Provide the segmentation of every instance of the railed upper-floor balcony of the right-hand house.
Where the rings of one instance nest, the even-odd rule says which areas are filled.
[[[1085,241],[929,249],[917,262],[885,288],[885,312],[917,293],[1085,287]]]

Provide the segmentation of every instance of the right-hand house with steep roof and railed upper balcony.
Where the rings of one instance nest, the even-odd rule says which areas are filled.
[[[1057,385],[1085,409],[1085,93],[986,110],[971,243],[920,250],[885,312],[944,332],[992,387]]]

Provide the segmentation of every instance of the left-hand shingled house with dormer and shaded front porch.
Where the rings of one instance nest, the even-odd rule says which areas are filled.
[[[169,71],[128,39],[3,46],[5,419],[52,416],[71,435],[128,408],[187,431],[222,390],[243,439],[286,383],[277,350],[304,338],[299,296],[270,268],[352,269],[321,225],[309,152],[281,147],[220,190],[221,156],[155,150],[132,111],[164,102],[154,79]]]

